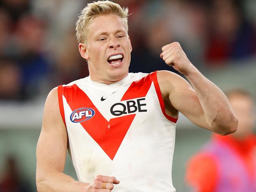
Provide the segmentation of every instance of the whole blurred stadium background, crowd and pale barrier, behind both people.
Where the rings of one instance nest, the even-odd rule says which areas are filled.
[[[48,92],[88,75],[74,23],[86,0],[0,1],[0,191],[36,191],[35,149]],[[115,0],[129,7],[130,72],[170,70],[161,47],[178,41],[189,59],[226,91],[256,98],[255,0]],[[172,69],[171,69],[172,70]],[[180,115],[173,183],[184,184],[187,159],[210,137]],[[76,178],[67,158],[65,173]],[[2,188],[1,188],[2,187]]]

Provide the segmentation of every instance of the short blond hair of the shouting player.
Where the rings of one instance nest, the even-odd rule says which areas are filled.
[[[119,4],[106,1],[97,1],[88,3],[87,6],[81,11],[76,21],[76,39],[80,42],[87,40],[88,26],[97,15],[114,14],[124,20],[126,32],[128,33],[128,8],[121,7]]]

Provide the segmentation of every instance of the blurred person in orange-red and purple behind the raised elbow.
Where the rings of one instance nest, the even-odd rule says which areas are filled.
[[[189,161],[186,180],[197,192],[256,191],[255,104],[243,90],[232,90],[227,96],[239,119],[237,131],[214,134]]]

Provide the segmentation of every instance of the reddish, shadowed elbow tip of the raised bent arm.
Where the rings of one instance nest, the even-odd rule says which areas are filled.
[[[238,125],[238,119],[237,117],[234,115],[232,118],[230,118],[229,121],[224,121],[223,124],[218,124],[216,125],[214,132],[219,134],[219,135],[229,135],[231,133],[236,132],[237,129],[237,125]]]

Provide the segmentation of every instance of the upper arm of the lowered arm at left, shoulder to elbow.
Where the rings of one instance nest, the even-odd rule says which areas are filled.
[[[42,129],[37,143],[37,174],[63,172],[67,155],[67,131],[61,118],[57,89],[45,102]]]

